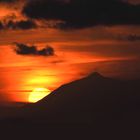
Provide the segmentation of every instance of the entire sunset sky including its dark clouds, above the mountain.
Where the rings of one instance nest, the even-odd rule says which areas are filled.
[[[53,91],[94,71],[140,78],[139,4],[0,0],[0,103],[30,102],[38,89]]]

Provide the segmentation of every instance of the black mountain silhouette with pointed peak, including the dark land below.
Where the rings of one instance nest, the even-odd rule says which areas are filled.
[[[135,139],[140,126],[140,80],[116,80],[95,72],[65,84],[0,120],[8,139]],[[25,138],[25,139],[26,139]]]

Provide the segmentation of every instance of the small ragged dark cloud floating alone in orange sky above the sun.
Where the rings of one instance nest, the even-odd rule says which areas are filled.
[[[37,50],[37,46],[28,46],[22,43],[15,43],[15,52],[19,55],[36,55],[36,56],[53,56],[54,49],[51,46],[46,46],[41,50]]]

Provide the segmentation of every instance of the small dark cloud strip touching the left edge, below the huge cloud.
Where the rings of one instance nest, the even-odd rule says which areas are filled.
[[[6,23],[5,22],[0,22],[0,30],[2,30],[2,29],[28,30],[28,29],[34,29],[34,28],[37,28],[37,25],[32,20],[21,20],[21,21],[9,20]]]

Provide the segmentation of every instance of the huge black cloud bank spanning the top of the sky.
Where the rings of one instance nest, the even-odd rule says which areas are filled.
[[[35,19],[61,20],[60,28],[140,24],[140,6],[122,0],[31,0],[22,13]]]

